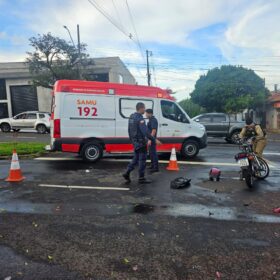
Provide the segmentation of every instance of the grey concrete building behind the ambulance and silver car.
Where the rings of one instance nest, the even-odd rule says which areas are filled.
[[[119,57],[95,58],[88,67],[89,80],[136,84]],[[0,118],[12,117],[24,111],[49,112],[50,89],[34,87],[28,65],[24,62],[0,63]]]

